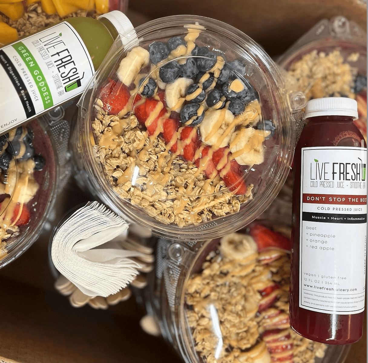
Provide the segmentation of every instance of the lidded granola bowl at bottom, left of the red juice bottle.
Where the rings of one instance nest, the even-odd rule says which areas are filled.
[[[184,362],[344,361],[347,346],[290,327],[290,235],[276,214],[205,242],[158,240],[146,307]]]

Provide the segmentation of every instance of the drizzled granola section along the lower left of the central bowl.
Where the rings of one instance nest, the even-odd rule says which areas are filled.
[[[198,225],[236,213],[251,199],[253,185],[245,195],[234,195],[219,177],[206,179],[194,163],[171,154],[163,139],[149,138],[134,115],[119,119],[102,106],[98,100],[93,155],[113,191],[160,223]]]

